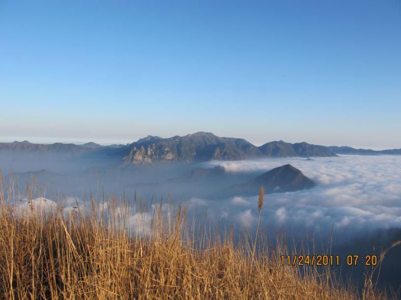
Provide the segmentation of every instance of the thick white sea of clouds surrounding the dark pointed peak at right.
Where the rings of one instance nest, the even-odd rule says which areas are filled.
[[[300,234],[307,229],[325,236],[333,230],[338,240],[369,234],[376,229],[401,227],[401,156],[342,155],[332,158],[215,161],[229,172],[266,172],[291,164],[313,179],[310,190],[267,194],[261,223],[271,230]],[[192,199],[191,201],[196,201]],[[258,196],[224,201],[202,199],[214,218],[252,228],[258,219]]]

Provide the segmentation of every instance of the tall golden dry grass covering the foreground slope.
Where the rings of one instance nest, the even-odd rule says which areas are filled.
[[[32,200],[36,192],[26,193]],[[250,239],[234,245],[232,233],[221,238],[195,230],[181,207],[169,218],[160,206],[143,235],[127,226],[125,201],[112,198],[105,211],[88,201],[89,214],[79,208],[45,213],[29,205],[21,214],[4,198],[2,182],[0,196],[2,299],[360,298],[329,268],[308,267],[304,273],[282,266],[283,243],[272,249],[261,235],[255,253]],[[369,282],[362,297],[385,298]]]

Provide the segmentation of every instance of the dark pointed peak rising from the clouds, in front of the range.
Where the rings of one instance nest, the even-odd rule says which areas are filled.
[[[217,193],[218,197],[252,196],[258,194],[260,186],[266,193],[299,191],[315,187],[315,182],[290,164],[279,166],[258,177],[233,185]]]

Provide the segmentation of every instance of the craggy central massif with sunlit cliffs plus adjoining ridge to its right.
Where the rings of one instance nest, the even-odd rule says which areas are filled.
[[[156,162],[234,161],[263,157],[336,156],[324,146],[308,143],[290,144],[284,141],[257,147],[242,138],[219,137],[199,132],[193,135],[161,138],[147,136],[127,146],[129,153],[123,165]]]

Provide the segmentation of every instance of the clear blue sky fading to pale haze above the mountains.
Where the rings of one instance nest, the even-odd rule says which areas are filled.
[[[401,0],[0,0],[0,139],[401,148]]]

